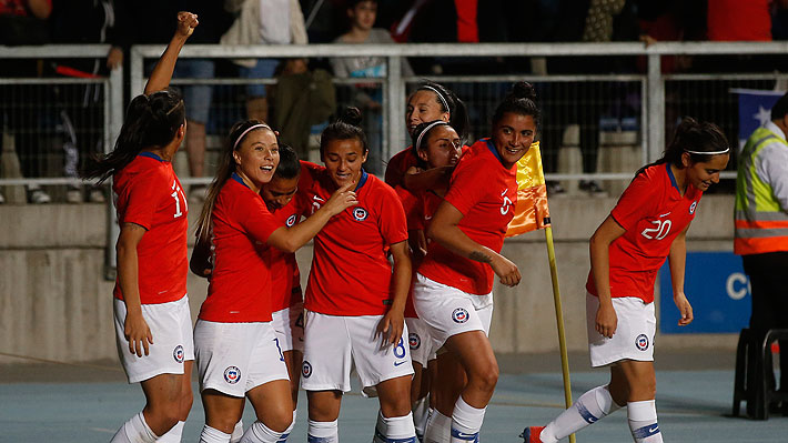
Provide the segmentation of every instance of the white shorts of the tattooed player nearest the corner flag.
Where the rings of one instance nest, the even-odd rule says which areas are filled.
[[[413,304],[418,318],[430,326],[430,334],[438,348],[449,336],[463,332],[489,333],[489,322],[493,320],[492,292],[485,295],[469,294],[416,273]]]

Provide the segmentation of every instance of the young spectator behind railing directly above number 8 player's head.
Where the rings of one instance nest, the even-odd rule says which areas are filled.
[[[347,7],[350,30],[337,37],[335,43],[381,44],[394,43],[385,29],[373,28],[377,17],[376,0],[351,0]],[[333,58],[331,67],[340,78],[375,78],[386,75],[386,59],[383,57]],[[413,70],[403,59],[403,75],[413,75]],[[364,112],[364,133],[368,137],[370,158],[367,172],[382,174],[383,89],[381,83],[358,83],[355,85],[353,105]]]

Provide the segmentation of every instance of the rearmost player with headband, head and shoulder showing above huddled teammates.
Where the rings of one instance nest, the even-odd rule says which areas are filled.
[[[468,130],[468,115],[465,103],[457,98],[449,89],[435,82],[426,82],[418,87],[415,92],[407,98],[407,109],[405,111],[405,124],[407,131],[413,134],[416,125],[443,120],[465,140]],[[428,174],[406,174],[411,167],[415,167],[418,155],[412,147],[397,152],[386,167],[385,180],[392,188],[403,184],[404,188],[418,191],[428,188],[435,178],[441,178],[451,169],[436,169]]]

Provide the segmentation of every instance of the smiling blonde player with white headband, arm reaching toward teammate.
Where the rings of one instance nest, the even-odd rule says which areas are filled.
[[[269,125],[256,120],[236,123],[198,223],[199,241],[210,241],[214,248],[208,298],[194,326],[205,410],[201,442],[230,441],[244,395],[257,421],[241,442],[286,439],[293,405],[284,355],[272,326],[271,269],[264,249],[294,252],[331,217],[356,203],[348,187],[340,188],[309,220],[282,225],[260,195],[279,162],[279,141]]]

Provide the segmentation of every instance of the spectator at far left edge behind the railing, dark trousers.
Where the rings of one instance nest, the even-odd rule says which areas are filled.
[[[51,0],[0,0],[0,44],[44,44],[48,41],[48,32],[44,20],[52,13]],[[39,77],[36,61],[23,61],[8,63],[2,70],[3,77]],[[11,103],[9,100],[1,100],[3,103]],[[4,108],[4,107],[3,107]],[[36,177],[39,168],[36,158],[40,155],[39,143],[31,138],[34,134],[36,125],[40,119],[38,109],[24,108],[24,110],[3,110],[7,115],[2,119],[0,131],[8,130],[16,132],[16,147],[19,160],[22,163],[22,175]],[[7,129],[8,125],[8,129]],[[0,194],[0,204],[6,199]],[[28,185],[28,201],[30,203],[49,203],[52,199],[38,184]]]

